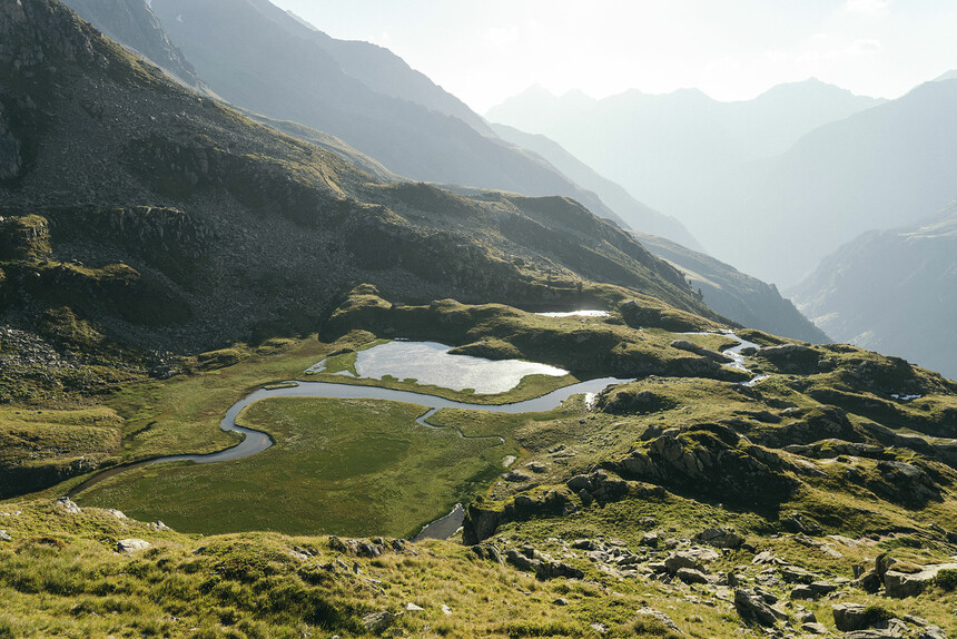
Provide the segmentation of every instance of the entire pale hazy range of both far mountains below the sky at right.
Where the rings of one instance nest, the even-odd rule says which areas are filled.
[[[710,254],[791,285],[842,242],[957,196],[946,78],[887,104],[816,80],[727,104],[695,90],[591,100],[535,89],[487,116],[549,135],[681,219]]]

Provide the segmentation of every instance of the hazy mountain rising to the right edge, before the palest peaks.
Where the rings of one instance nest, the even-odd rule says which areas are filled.
[[[870,229],[914,224],[957,197],[957,80],[823,126],[753,167],[718,197],[708,237],[747,250],[716,250],[762,278],[807,276],[830,252]],[[733,197],[733,194],[740,194]]]

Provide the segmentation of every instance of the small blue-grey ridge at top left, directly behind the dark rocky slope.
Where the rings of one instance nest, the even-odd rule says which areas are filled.
[[[162,24],[145,1],[68,0],[65,3],[107,37],[152,60],[177,80],[194,89],[206,90],[203,81],[196,77],[193,65],[169,41]]]

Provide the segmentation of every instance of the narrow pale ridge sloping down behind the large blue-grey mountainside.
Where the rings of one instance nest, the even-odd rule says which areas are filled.
[[[526,134],[505,125],[492,125],[492,128],[502,139],[539,154],[575,184],[594,191],[603,203],[624,219],[629,227],[668,237],[692,248],[700,248],[698,240],[680,222],[641,204],[620,185],[595,173],[554,140],[541,134]]]

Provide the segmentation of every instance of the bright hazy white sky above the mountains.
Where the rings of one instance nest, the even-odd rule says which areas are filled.
[[[484,112],[539,83],[748,99],[817,77],[895,98],[957,68],[955,0],[273,0]]]

